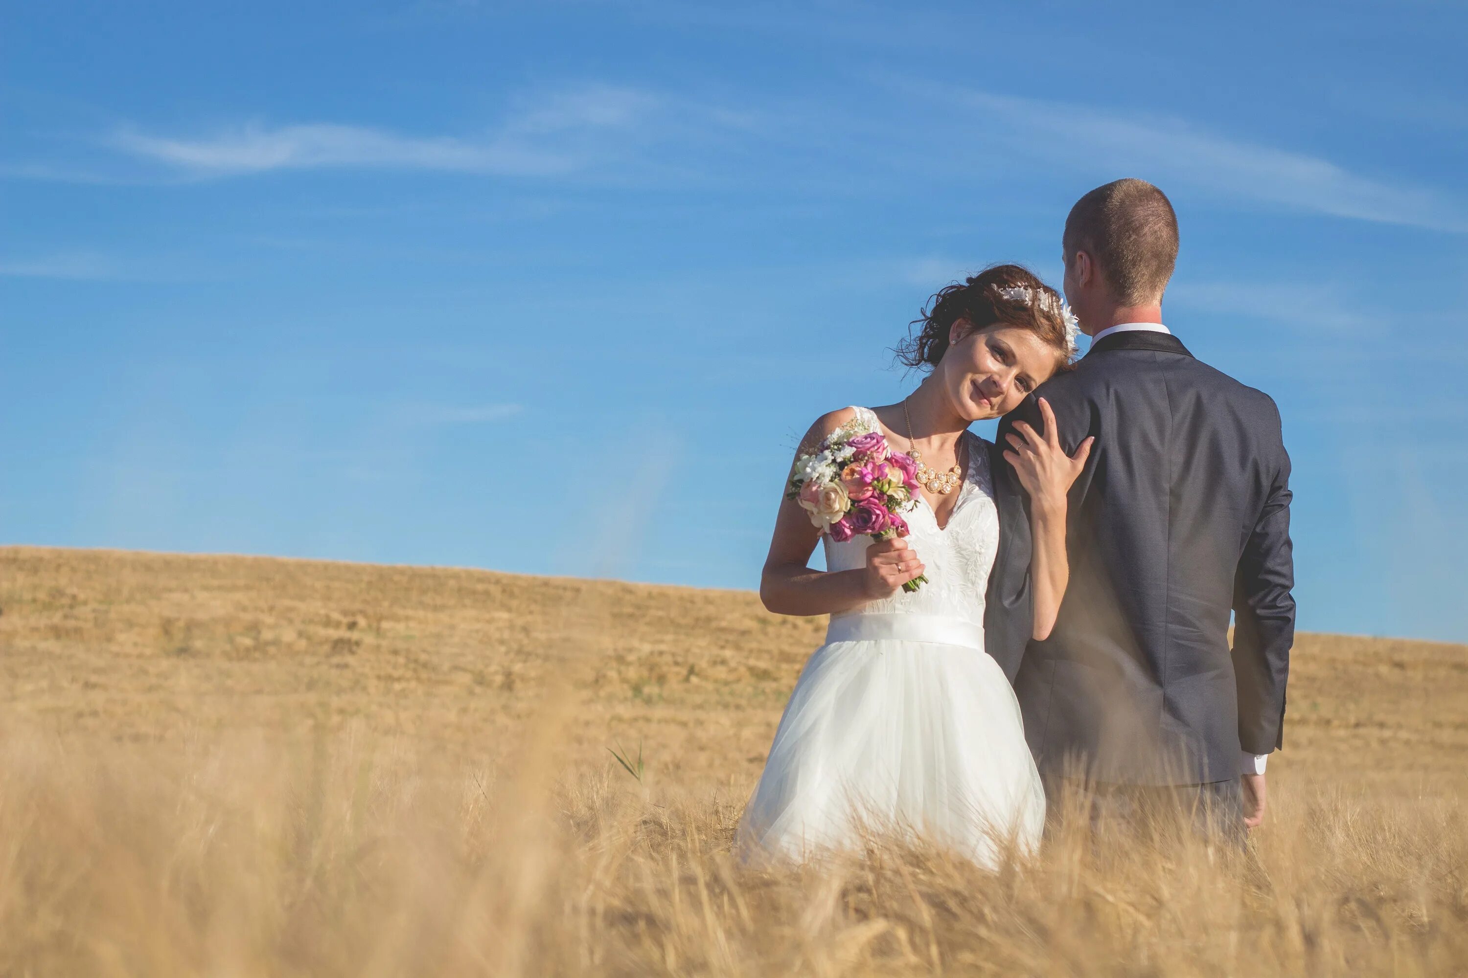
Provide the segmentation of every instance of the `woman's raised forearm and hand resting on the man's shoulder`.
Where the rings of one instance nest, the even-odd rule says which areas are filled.
[[[1020,484],[1029,493],[1029,526],[1033,537],[1033,556],[1029,576],[1035,591],[1035,639],[1050,638],[1060,616],[1060,601],[1070,584],[1070,563],[1066,559],[1066,507],[1072,482],[1085,468],[1086,456],[1095,438],[1086,438],[1076,447],[1075,456],[1067,456],[1060,447],[1060,433],[1055,428],[1055,412],[1050,403],[1039,399],[1039,413],[1045,421],[1045,434],[1036,434],[1023,421],[1014,424],[1014,433],[1007,435],[1010,447],[1004,457],[1014,466]]]

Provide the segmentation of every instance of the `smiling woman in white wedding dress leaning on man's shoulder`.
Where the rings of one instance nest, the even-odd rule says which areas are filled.
[[[780,507],[760,598],[771,611],[831,623],[740,821],[746,861],[856,849],[863,828],[920,834],[984,865],[1007,842],[1038,842],[1045,796],[1014,692],[984,651],[985,589],[1004,532],[994,477],[1011,465],[1029,493],[1032,626],[1042,639],[1069,576],[1066,493],[1091,444],[1067,457],[1044,402],[1045,434],[1019,424],[1003,452],[967,428],[1069,367],[1069,312],[1019,265],[948,286],[900,350],[931,371],[918,390],[885,408],[834,411],[803,438],[797,457],[843,425],[875,431],[913,457],[923,491],[906,540],[825,537],[825,572],[806,566],[818,540],[809,513],[794,500]],[[928,584],[903,591],[919,575]]]

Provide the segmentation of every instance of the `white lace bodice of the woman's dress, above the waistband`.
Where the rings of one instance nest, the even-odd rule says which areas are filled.
[[[856,408],[856,413],[871,431],[882,431],[871,409]],[[898,591],[856,611],[834,614],[832,619],[851,614],[916,613],[962,617],[984,626],[984,592],[994,569],[994,556],[998,553],[1000,516],[994,506],[988,443],[972,431],[966,431],[963,437],[969,438],[969,468],[957,490],[959,501],[948,516],[948,525],[938,528],[938,519],[926,500],[903,515],[910,529],[907,543],[926,566],[928,584],[910,594]],[[866,566],[871,537],[853,537],[846,543],[825,537],[824,541],[829,570]]]

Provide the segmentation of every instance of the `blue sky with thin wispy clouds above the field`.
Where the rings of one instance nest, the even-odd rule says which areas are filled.
[[[0,540],[753,588],[810,419],[1141,176],[1302,628],[1468,639],[1468,12],[1195,6],[6,3]]]

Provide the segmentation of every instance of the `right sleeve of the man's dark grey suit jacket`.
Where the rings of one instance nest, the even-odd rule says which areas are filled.
[[[1276,421],[1279,412],[1274,413]],[[1243,545],[1233,585],[1233,673],[1239,689],[1239,746],[1268,754],[1283,745],[1284,685],[1295,644],[1295,557],[1289,538],[1289,455],[1279,463],[1264,507]]]

